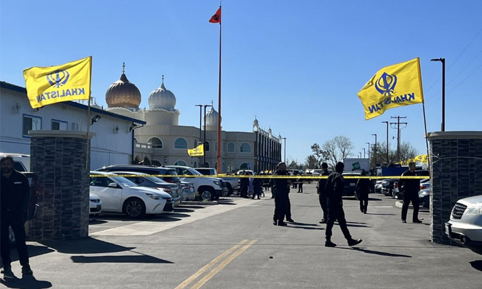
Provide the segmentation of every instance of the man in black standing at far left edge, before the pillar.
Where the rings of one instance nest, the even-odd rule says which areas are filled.
[[[5,156],[0,160],[0,255],[3,260],[4,276],[13,277],[12,259],[10,259],[10,239],[8,227],[15,235],[15,244],[23,275],[32,275],[28,262],[28,250],[25,244],[25,213],[30,202],[30,184],[25,175],[13,168],[13,158]]]

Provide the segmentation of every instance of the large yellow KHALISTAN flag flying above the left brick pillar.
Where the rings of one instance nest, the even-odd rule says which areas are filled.
[[[32,108],[68,100],[89,99],[92,56],[59,66],[23,70]]]

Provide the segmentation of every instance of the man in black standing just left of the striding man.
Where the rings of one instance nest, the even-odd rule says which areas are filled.
[[[289,175],[286,171],[286,164],[280,162],[277,171],[273,173],[276,175]],[[273,193],[275,193],[275,214],[273,215],[273,224],[275,226],[286,226],[284,216],[286,215],[286,206],[288,204],[288,192],[291,180],[288,178],[273,178]]]

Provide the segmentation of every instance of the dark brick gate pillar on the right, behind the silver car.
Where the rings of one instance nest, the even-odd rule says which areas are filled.
[[[482,195],[482,131],[428,133],[430,173],[430,235],[432,242],[451,244],[445,223],[457,200]]]

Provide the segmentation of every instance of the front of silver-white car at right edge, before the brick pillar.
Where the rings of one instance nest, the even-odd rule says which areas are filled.
[[[482,255],[482,195],[458,200],[446,223],[452,241]]]

